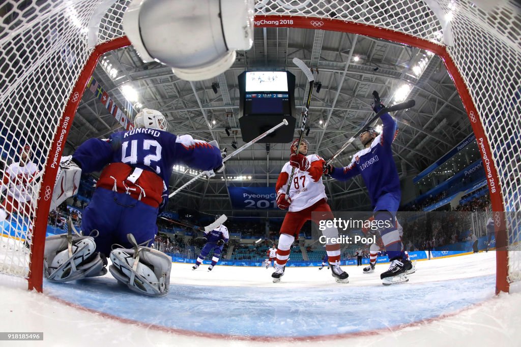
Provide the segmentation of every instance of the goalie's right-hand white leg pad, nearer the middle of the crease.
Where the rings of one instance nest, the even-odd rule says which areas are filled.
[[[172,258],[150,247],[138,249],[138,254],[134,249],[116,248],[111,251],[110,274],[135,292],[164,297],[170,287]]]

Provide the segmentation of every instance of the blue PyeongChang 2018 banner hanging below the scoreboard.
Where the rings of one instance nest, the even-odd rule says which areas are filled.
[[[228,187],[234,209],[276,209],[275,187]]]

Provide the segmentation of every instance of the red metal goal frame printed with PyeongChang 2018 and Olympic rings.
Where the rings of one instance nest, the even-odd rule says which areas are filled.
[[[492,157],[492,151],[489,145],[488,138],[482,125],[482,121],[477,108],[474,105],[468,88],[457,69],[454,61],[449,55],[448,51],[443,45],[424,40],[423,38],[415,37],[403,32],[398,32],[390,29],[379,28],[374,25],[362,24],[357,22],[350,22],[340,19],[323,19],[317,17],[302,17],[302,16],[279,16],[266,15],[255,16],[255,22],[264,24],[256,25],[257,28],[296,28],[296,29],[320,29],[328,31],[337,31],[353,34],[361,34],[375,38],[381,38],[392,42],[399,42],[409,46],[426,49],[432,53],[437,54],[454,81],[454,85],[460,98],[463,102],[467,116],[472,126],[472,130],[476,135],[478,146],[480,146],[480,155],[483,160],[483,167],[490,174],[487,175],[487,184],[489,187],[490,200],[492,203],[492,210],[495,222],[496,235],[496,289],[495,292],[508,292],[508,250],[507,250],[507,233],[504,216],[503,197],[501,194],[501,183],[499,181],[498,172]],[[266,24],[272,23],[272,24]],[[64,150],[67,135],[70,131],[72,122],[74,120],[79,102],[83,96],[97,62],[100,57],[110,50],[129,46],[131,43],[126,36],[116,38],[115,40],[97,45],[87,60],[83,70],[80,73],[79,79],[69,95],[67,106],[64,113],[61,115],[57,131],[53,136],[51,150],[49,150],[46,158],[45,173],[42,178],[42,184],[39,195],[39,204],[36,209],[36,216],[33,230],[33,246],[31,261],[29,265],[29,290],[36,290],[42,292],[43,290],[43,254],[45,245],[45,234],[47,227],[47,217],[51,203],[50,197],[54,188],[54,181],[57,173],[57,165],[54,161],[59,163],[59,159]],[[57,160],[56,160],[57,159]]]

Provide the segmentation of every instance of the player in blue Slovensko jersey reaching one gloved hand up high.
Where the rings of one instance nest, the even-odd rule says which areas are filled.
[[[384,106],[376,91],[373,95],[375,97],[373,109],[378,113]],[[384,285],[391,285],[407,281],[404,273],[412,268],[412,264],[402,251],[402,242],[395,224],[401,191],[391,145],[398,134],[398,125],[389,113],[382,114],[380,119],[383,123],[382,134],[378,134],[373,127],[366,127],[359,136],[365,149],[358,151],[345,168],[327,165],[324,167],[324,173],[341,181],[362,175],[373,205],[375,222],[381,225],[379,233],[391,261],[388,271],[382,273],[380,278]]]

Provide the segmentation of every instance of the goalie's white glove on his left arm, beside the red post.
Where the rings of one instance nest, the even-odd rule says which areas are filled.
[[[56,209],[62,202],[78,194],[81,167],[72,156],[61,157],[54,183],[50,210]]]

